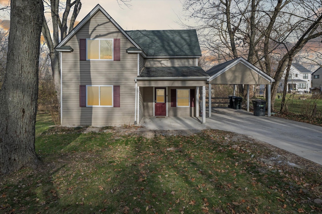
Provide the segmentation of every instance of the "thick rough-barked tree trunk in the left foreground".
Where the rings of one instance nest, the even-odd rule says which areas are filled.
[[[37,167],[35,123],[38,97],[42,0],[11,0],[6,74],[0,90],[0,172]]]

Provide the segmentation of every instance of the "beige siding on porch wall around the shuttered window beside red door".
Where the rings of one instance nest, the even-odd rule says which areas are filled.
[[[171,89],[195,89],[195,87],[168,87],[168,116],[195,116],[194,107],[171,107]]]

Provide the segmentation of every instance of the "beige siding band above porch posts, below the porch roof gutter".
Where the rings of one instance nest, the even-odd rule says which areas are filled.
[[[165,81],[154,81],[154,80],[138,80],[137,85],[140,87],[166,87],[166,86],[204,86],[206,85],[205,80],[165,80]]]

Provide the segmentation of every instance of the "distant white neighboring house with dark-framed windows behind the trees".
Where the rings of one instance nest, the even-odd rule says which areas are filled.
[[[293,63],[289,70],[289,78],[287,84],[287,93],[309,93],[311,87],[311,71],[303,67],[298,63]],[[279,83],[279,90],[283,91],[284,79],[286,70],[284,71],[283,77]]]

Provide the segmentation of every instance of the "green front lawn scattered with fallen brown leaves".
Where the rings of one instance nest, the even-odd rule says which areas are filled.
[[[44,164],[0,175],[2,213],[322,212],[312,202],[322,195],[321,167],[264,164],[276,154],[235,133],[147,139],[37,120]]]

